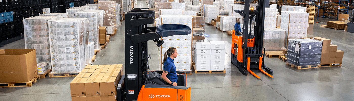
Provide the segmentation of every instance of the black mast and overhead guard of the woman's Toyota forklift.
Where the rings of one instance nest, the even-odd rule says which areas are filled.
[[[125,14],[125,79],[120,81],[118,101],[137,100],[139,91],[150,72],[148,41],[153,40],[160,47],[161,37],[187,35],[192,30],[187,25],[164,24],[148,27],[154,23],[154,8],[134,8]],[[125,95],[125,96],[124,96]]]

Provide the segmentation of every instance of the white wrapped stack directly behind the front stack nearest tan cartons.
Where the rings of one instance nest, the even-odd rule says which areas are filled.
[[[99,45],[99,12],[98,11],[77,11],[75,13],[76,18],[88,18],[89,19],[89,42],[95,44],[95,49],[98,50],[101,48]]]

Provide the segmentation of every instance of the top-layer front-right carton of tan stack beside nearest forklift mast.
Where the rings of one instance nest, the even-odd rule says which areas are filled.
[[[101,82],[99,82],[99,90],[101,91],[101,96],[115,95],[116,94],[116,82],[117,77],[103,77]]]

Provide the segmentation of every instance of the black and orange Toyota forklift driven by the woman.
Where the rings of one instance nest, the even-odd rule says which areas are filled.
[[[150,71],[148,41],[160,47],[161,37],[187,35],[192,30],[187,25],[154,23],[154,8],[134,8],[125,14],[125,74],[117,85],[117,101],[190,101],[190,88],[172,86],[161,79],[162,71]]]

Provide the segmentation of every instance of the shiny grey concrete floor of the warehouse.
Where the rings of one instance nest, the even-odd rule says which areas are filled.
[[[136,7],[146,7],[138,0]],[[274,78],[261,72],[244,76],[230,63],[231,37],[207,25],[206,39],[225,41],[226,73],[194,74],[187,76],[192,101],[354,101],[354,33],[320,27],[333,19],[319,18],[310,25],[308,37],[320,36],[331,39],[344,51],[341,67],[322,67],[296,70],[277,58],[265,58],[265,64],[274,70]],[[335,21],[335,20],[333,20]],[[124,64],[124,22],[118,34],[110,38],[105,49],[97,54],[93,64]],[[17,36],[0,42],[0,49],[23,49],[24,39]],[[151,70],[160,69],[159,48],[149,41]],[[125,69],[123,65],[123,69]],[[70,101],[69,83],[74,77],[39,79],[32,87],[0,88],[0,101]],[[4,79],[4,78],[2,78]]]

